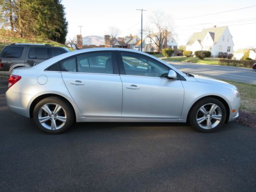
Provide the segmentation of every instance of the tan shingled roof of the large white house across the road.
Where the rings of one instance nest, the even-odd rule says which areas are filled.
[[[212,40],[214,42],[217,42],[220,38],[223,32],[227,29],[227,26],[224,27],[216,27],[216,28],[208,28],[208,29],[203,29],[199,33],[193,33],[193,35],[190,37],[190,39],[187,41],[187,45],[192,45],[196,40],[203,40],[205,35],[207,33],[210,34]]]

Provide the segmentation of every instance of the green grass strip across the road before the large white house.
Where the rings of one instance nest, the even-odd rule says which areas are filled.
[[[191,63],[204,63],[210,65],[219,65],[219,58],[204,58],[199,59],[197,57],[165,57],[163,60],[168,61],[180,61],[180,62],[191,62]]]

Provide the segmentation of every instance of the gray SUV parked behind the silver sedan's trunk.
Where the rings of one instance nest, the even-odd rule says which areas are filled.
[[[0,75],[10,75],[14,68],[31,67],[67,52],[65,47],[44,44],[10,44],[0,54]]]

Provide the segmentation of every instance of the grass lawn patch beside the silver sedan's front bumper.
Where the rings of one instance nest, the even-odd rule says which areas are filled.
[[[241,97],[240,110],[256,115],[256,86],[254,84],[247,84],[242,82],[234,82],[228,80],[223,81],[233,84],[238,88]]]

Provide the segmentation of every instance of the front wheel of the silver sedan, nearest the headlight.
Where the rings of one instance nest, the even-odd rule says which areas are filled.
[[[221,101],[208,97],[193,106],[189,114],[189,122],[199,132],[214,132],[224,124],[226,114],[225,106]]]

